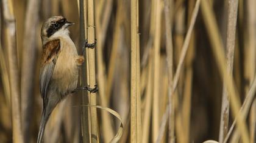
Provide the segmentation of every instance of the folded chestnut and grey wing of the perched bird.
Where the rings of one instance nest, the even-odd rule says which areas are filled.
[[[40,69],[40,91],[41,97],[46,98],[49,82],[60,53],[60,39],[55,39],[43,45]]]

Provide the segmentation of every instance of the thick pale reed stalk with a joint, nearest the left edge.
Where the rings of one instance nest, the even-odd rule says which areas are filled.
[[[5,22],[5,33],[7,39],[7,56],[9,63],[10,95],[12,104],[12,141],[23,143],[21,129],[21,105],[20,105],[20,75],[18,67],[18,54],[16,49],[16,25],[13,13],[12,1],[3,0],[3,15]]]

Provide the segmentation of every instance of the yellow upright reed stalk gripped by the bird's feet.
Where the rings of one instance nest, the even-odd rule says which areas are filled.
[[[88,43],[95,42],[95,29],[94,29],[94,1],[88,0]],[[88,49],[88,67],[89,67],[89,85],[90,88],[94,88],[96,85],[95,75],[95,48]],[[97,98],[96,93],[90,93],[90,104],[96,105]],[[91,108],[91,142],[98,142],[98,118],[96,108]]]

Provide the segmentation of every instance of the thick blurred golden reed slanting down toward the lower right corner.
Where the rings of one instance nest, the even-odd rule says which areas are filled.
[[[209,35],[211,36],[210,39],[212,40],[211,42],[213,45],[213,53],[215,55],[216,61],[218,61],[217,64],[219,66],[219,70],[222,73],[221,76],[223,77],[224,85],[226,85],[227,90],[229,91],[233,116],[237,118],[238,128],[240,130],[243,142],[249,142],[248,131],[244,119],[238,115],[238,111],[241,105],[240,101],[238,100],[238,93],[234,87],[233,79],[230,74],[231,71],[225,71],[227,66],[224,57],[224,46],[222,44],[221,36],[219,36],[220,34],[215,22],[215,17],[213,16],[212,10],[209,7],[207,1],[202,1],[201,7],[202,13],[204,13],[205,25]]]

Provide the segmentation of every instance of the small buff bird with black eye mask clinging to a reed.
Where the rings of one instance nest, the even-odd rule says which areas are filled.
[[[66,21],[63,16],[53,16],[41,27],[40,91],[43,113],[37,143],[43,142],[44,128],[52,110],[66,95],[76,90],[79,65],[84,62],[84,56],[77,54],[76,46],[69,37],[70,25],[74,23]]]

